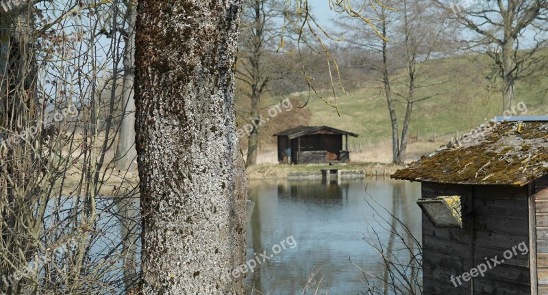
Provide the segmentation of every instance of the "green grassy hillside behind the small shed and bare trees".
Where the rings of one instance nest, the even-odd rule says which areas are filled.
[[[416,99],[434,94],[436,96],[414,105],[410,134],[419,132],[419,140],[427,140],[436,131],[440,138],[449,140],[456,131],[462,135],[486,122],[486,118],[501,116],[503,110],[500,85],[495,83],[493,86],[486,79],[489,67],[490,60],[482,55],[449,57],[421,64],[417,70],[417,85],[434,86],[416,90]],[[391,127],[386,97],[378,77],[371,77],[370,80],[366,88],[348,94],[338,91],[336,101],[340,116],[321,99],[312,97],[307,105],[312,112],[310,125],[329,125],[358,133],[360,137],[351,138],[351,143],[361,141],[374,144],[390,140]],[[406,94],[405,71],[401,70],[393,75],[393,80],[393,90]],[[515,87],[515,101],[525,102],[527,115],[547,114],[547,88],[548,77],[520,80]],[[323,91],[322,95],[327,101],[334,103],[333,94],[329,90]],[[308,94],[301,94],[301,101],[306,101],[306,97]],[[405,105],[400,97],[394,96],[394,99],[399,100],[396,104],[401,130]]]

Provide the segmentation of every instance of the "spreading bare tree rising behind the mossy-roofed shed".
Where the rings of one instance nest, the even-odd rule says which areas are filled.
[[[434,1],[445,8],[449,18],[471,31],[469,48],[491,57],[495,75],[503,83],[503,110],[510,110],[515,82],[546,65],[538,51],[547,44],[548,1],[473,1],[466,6]]]

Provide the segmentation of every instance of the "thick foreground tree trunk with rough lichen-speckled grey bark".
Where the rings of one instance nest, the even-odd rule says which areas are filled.
[[[234,114],[240,5],[139,1],[136,146],[147,295],[243,294],[246,182]]]

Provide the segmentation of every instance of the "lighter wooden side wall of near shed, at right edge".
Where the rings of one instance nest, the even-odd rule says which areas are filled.
[[[548,294],[548,175],[535,181],[538,294]]]

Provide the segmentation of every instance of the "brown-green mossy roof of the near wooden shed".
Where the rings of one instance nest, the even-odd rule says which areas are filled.
[[[548,173],[547,122],[486,123],[423,156],[391,178],[523,186]]]

